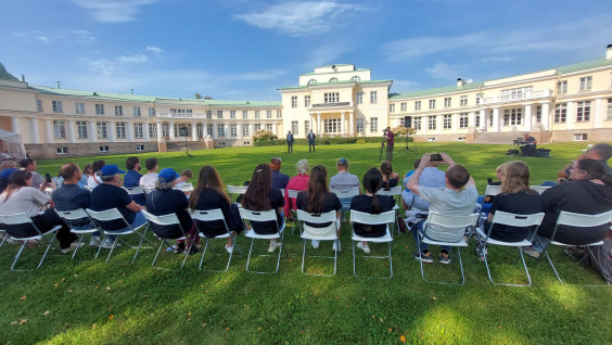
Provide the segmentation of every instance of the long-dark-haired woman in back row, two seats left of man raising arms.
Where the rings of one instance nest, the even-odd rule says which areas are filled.
[[[317,165],[310,170],[310,180],[308,181],[308,190],[297,194],[297,208],[305,210],[309,214],[324,214],[330,210],[335,210],[335,218],[337,222],[337,235],[340,237],[340,209],[342,204],[334,193],[330,193],[328,189],[328,170],[322,165]],[[331,223],[310,223],[306,222],[307,227],[326,228]],[[313,240],[313,247],[319,247],[319,240]],[[335,241],[332,250],[335,252]]]

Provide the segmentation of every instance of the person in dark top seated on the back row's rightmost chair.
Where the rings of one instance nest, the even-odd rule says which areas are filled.
[[[570,181],[553,186],[541,193],[544,220],[537,240],[525,254],[538,257],[551,240],[557,218],[561,210],[585,215],[597,215],[612,209],[612,175],[607,174],[600,161],[583,158],[574,162],[570,169]],[[610,225],[588,228],[559,226],[554,241],[586,245],[605,239]]]

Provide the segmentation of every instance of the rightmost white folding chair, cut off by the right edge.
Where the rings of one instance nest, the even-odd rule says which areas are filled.
[[[571,212],[565,212],[565,210],[561,210],[561,213],[559,213],[559,218],[557,218],[557,223],[554,225],[554,229],[552,230],[552,235],[550,237],[550,243],[547,244],[544,247],[544,254],[546,254],[546,258],[548,259],[548,263],[550,263],[550,267],[552,267],[552,270],[554,271],[554,276],[557,276],[557,279],[559,280],[560,283],[563,283],[563,281],[559,277],[559,272],[557,272],[557,268],[554,268],[554,265],[552,265],[552,260],[550,259],[550,256],[548,255],[547,247],[550,244],[563,245],[563,246],[569,246],[569,245],[573,245],[573,244],[566,244],[566,243],[561,243],[561,242],[554,241],[554,237],[557,235],[557,230],[559,229],[559,226],[563,225],[563,226],[570,226],[570,227],[586,228],[586,227],[597,227],[597,226],[601,226],[601,225],[604,225],[604,223],[610,223],[610,221],[612,221],[612,210],[604,212],[604,213],[601,213],[599,215],[584,215],[584,214],[576,214],[576,213],[571,213]],[[597,259],[597,257],[595,256],[595,254],[590,250],[590,246],[602,245],[602,244],[603,244],[603,239],[601,239],[601,241],[584,245],[587,253],[581,259],[581,261],[583,261],[588,256],[590,256],[591,259],[595,263],[599,263],[599,260]],[[599,267],[600,265],[597,265],[597,266]],[[610,283],[607,282],[605,285],[610,285]],[[586,286],[605,286],[605,285],[586,285]]]

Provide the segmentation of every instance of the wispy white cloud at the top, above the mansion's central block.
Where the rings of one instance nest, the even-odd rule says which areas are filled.
[[[286,2],[235,17],[263,29],[278,29],[289,36],[308,36],[329,31],[344,22],[344,14],[359,10],[353,4],[328,1]]]

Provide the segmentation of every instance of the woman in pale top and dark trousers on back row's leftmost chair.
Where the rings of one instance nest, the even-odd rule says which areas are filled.
[[[76,248],[75,240],[77,237],[71,232],[71,229],[64,223],[62,218],[58,216],[52,208],[40,214],[40,207],[51,203],[51,196],[42,192],[51,184],[42,183],[41,190],[31,187],[33,174],[28,170],[17,170],[9,177],[9,187],[0,194],[0,214],[15,215],[26,214],[31,221],[43,233],[51,230],[55,226],[62,226],[58,231],[58,240],[62,252],[69,253]],[[37,235],[38,233],[31,227],[24,226],[3,226],[7,232],[16,238],[26,238]]]

